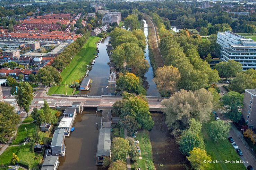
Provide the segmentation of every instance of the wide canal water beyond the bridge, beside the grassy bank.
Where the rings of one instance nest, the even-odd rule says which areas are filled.
[[[95,58],[95,63],[92,66],[92,69],[89,71],[89,78],[92,79],[92,87],[89,91],[81,91],[79,94],[86,94],[90,96],[100,96],[103,94],[106,95],[106,86],[108,86],[109,77],[109,65],[108,62],[109,56],[106,51],[106,45],[109,43],[109,38],[106,37],[104,40],[98,45],[99,54],[97,58]],[[85,68],[86,72],[86,68]]]

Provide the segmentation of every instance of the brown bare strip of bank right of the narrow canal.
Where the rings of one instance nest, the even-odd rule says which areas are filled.
[[[144,19],[146,20],[147,24],[148,24],[148,46],[150,48],[152,48],[153,51],[153,55],[154,55],[154,59],[155,59],[155,63],[157,67],[162,67],[164,65],[161,54],[160,54],[160,50],[159,50],[159,46],[158,46],[158,35],[157,35],[157,31],[155,29],[155,25],[153,23],[153,21],[144,14]]]

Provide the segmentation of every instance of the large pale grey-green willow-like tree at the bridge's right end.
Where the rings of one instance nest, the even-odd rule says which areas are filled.
[[[200,123],[208,122],[213,108],[212,100],[211,93],[203,88],[194,93],[182,89],[164,100],[161,104],[170,133],[177,135],[179,130],[188,128],[191,118]]]

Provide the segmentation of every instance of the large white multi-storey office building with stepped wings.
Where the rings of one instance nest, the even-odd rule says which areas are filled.
[[[256,42],[231,31],[218,32],[217,43],[221,46],[221,60],[235,60],[242,69],[256,69]]]

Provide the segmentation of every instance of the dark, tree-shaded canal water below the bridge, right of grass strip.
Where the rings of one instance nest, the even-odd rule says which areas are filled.
[[[169,134],[164,114],[152,113],[152,119],[155,125],[150,131],[150,140],[155,168],[157,170],[185,169],[187,159],[181,154],[174,136]]]

